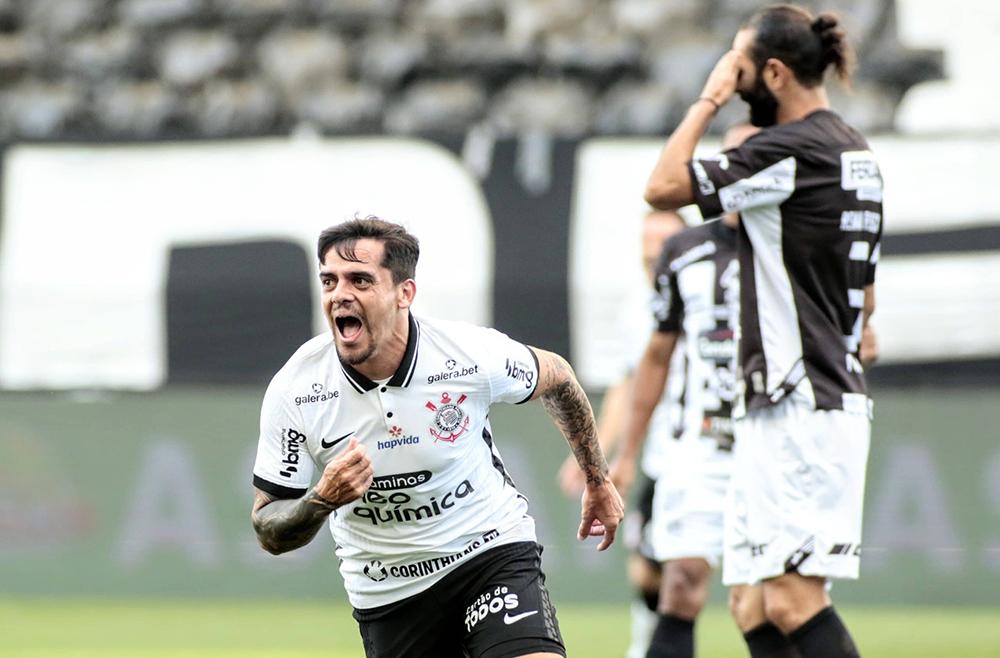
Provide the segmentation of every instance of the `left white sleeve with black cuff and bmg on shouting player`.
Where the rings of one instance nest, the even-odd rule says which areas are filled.
[[[312,484],[313,462],[301,414],[284,392],[276,379],[264,394],[253,485],[276,498],[299,498]]]

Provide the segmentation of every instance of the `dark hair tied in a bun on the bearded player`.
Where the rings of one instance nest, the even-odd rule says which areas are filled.
[[[781,60],[807,87],[822,84],[823,74],[831,64],[837,77],[848,82],[854,53],[839,25],[838,18],[830,13],[813,18],[796,5],[765,7],[746,24],[756,33],[751,57],[757,70],[772,57]]]

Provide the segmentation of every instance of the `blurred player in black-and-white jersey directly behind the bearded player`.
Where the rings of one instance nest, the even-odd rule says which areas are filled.
[[[735,126],[723,145],[756,131]],[[629,487],[656,400],[668,382],[683,382],[681,441],[664,455],[650,523],[654,557],[664,565],[656,631],[645,654],[651,658],[694,655],[694,622],[722,557],[739,313],[737,224],[735,215],[725,215],[681,231],[664,247],[655,272],[656,331],[636,368],[625,441],[612,468],[617,486]],[[683,369],[674,365],[678,354]]]

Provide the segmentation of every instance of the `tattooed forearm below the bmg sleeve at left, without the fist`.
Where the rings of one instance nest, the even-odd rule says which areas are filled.
[[[250,515],[257,540],[268,553],[278,555],[305,546],[336,505],[310,489],[302,498],[275,500],[258,490]]]

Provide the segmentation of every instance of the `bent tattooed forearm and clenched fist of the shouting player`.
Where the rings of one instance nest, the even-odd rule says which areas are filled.
[[[347,450],[326,465],[319,482],[302,498],[277,500],[256,490],[250,520],[257,541],[273,555],[305,546],[335,509],[363,496],[371,483],[368,451],[352,438]]]

